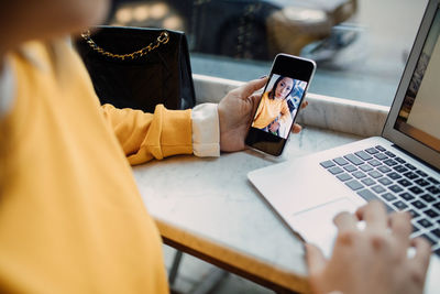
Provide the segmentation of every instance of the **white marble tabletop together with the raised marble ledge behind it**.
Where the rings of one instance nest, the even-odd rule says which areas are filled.
[[[195,75],[197,102],[218,102],[243,83]],[[302,243],[248,181],[250,171],[341,145],[381,132],[387,108],[309,94],[299,117],[302,132],[290,135],[274,159],[255,151],[219,159],[174,156],[133,168],[147,209],[187,235],[208,239],[276,269],[304,276]],[[315,126],[315,127],[314,127]],[[319,127],[319,128],[317,128]]]

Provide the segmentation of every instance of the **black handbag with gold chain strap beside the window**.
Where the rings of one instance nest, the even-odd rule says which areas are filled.
[[[196,104],[183,32],[103,25],[84,32],[76,48],[101,104],[146,112]]]

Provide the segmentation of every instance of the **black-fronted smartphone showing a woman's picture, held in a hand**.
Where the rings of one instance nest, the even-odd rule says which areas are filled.
[[[248,146],[274,156],[283,153],[315,69],[314,61],[276,55],[245,139]]]

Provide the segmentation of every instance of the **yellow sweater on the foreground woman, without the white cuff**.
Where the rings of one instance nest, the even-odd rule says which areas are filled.
[[[101,108],[67,45],[24,53],[9,56],[14,106],[0,120],[0,293],[167,293],[125,155],[191,153],[190,110]]]

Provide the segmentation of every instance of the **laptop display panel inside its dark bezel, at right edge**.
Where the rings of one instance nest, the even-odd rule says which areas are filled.
[[[440,152],[440,10],[422,45],[394,128]]]

